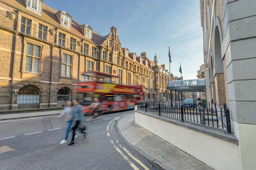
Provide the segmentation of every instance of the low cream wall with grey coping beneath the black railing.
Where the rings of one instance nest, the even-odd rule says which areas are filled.
[[[224,130],[135,110],[135,123],[216,170],[241,170],[238,140]]]

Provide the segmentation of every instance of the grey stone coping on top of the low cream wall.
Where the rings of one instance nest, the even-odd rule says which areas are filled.
[[[176,119],[174,117],[158,116],[156,114],[144,112],[141,110],[136,110],[135,113],[136,112],[146,115],[146,116],[160,119],[160,120],[168,122],[168,123],[173,123],[177,126],[182,126],[183,128],[198,131],[198,132],[201,132],[201,133],[204,133],[204,134],[207,134],[207,135],[210,135],[210,136],[213,136],[213,137],[216,137],[216,138],[219,138],[219,139],[225,140],[227,142],[231,142],[231,143],[238,145],[238,139],[236,138],[236,136],[234,134],[225,133],[225,130],[223,130],[223,129],[213,128],[210,126],[205,126],[205,125],[188,122],[188,121],[181,122],[180,119]]]

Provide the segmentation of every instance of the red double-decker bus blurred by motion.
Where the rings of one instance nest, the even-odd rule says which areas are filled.
[[[89,109],[94,97],[100,101],[102,113],[134,109],[135,104],[142,100],[142,87],[116,84],[118,76],[98,71],[83,74],[84,82],[77,84],[79,102],[85,114],[91,114]]]

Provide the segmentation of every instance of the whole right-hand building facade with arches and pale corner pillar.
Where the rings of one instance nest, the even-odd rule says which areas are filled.
[[[200,0],[206,99],[227,104],[243,170],[256,167],[255,8],[255,0]]]

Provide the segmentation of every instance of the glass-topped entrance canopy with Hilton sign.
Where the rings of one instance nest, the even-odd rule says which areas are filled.
[[[169,81],[168,90],[178,92],[205,91],[205,79]]]

